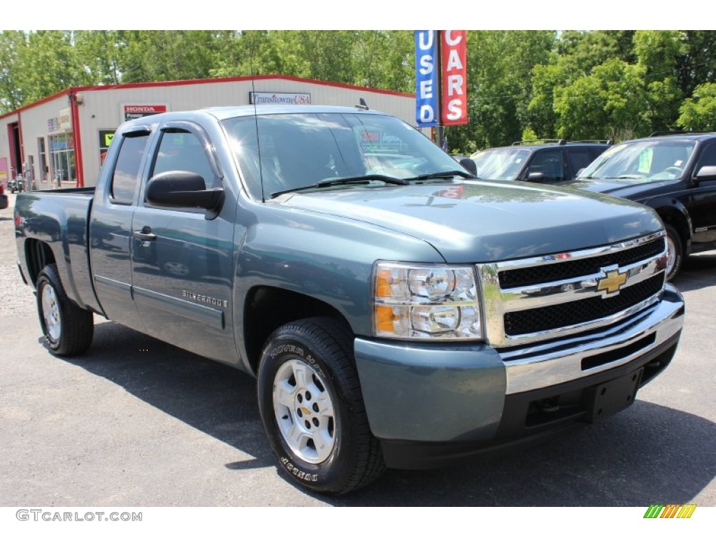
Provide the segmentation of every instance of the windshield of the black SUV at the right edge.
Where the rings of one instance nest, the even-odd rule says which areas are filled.
[[[694,151],[692,140],[639,140],[610,147],[579,178],[677,180]]]

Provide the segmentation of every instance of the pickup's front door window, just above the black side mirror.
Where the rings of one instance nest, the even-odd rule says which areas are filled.
[[[152,176],[168,171],[193,172],[204,179],[206,188],[214,188],[217,178],[209,164],[200,140],[192,132],[169,131],[162,133],[155,158]]]

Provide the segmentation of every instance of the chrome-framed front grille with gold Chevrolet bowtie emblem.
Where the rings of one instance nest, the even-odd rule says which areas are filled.
[[[607,326],[657,301],[664,233],[584,251],[478,265],[485,329],[495,347]]]

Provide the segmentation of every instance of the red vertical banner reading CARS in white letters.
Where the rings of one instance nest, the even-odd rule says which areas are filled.
[[[468,47],[465,30],[443,30],[442,125],[468,124]]]

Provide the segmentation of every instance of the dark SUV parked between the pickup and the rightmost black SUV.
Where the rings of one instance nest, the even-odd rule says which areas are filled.
[[[574,179],[609,145],[608,140],[515,142],[478,151],[460,163],[480,179],[561,183]]]

